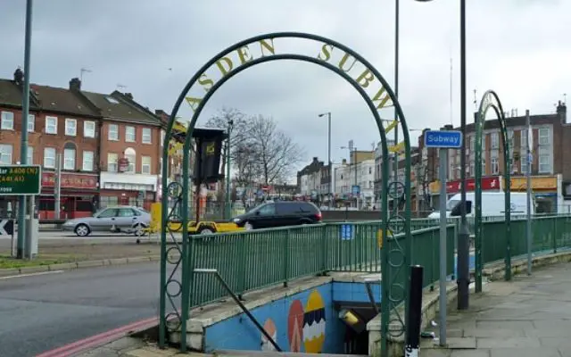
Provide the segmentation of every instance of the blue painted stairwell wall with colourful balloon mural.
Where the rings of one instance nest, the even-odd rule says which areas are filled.
[[[333,295],[333,284],[328,283],[260,306],[252,314],[284,352],[343,353],[345,325],[337,317]],[[206,328],[205,351],[271,350],[261,335],[240,314]]]

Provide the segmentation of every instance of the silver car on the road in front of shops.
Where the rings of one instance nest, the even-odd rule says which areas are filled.
[[[144,229],[149,227],[151,214],[135,206],[118,206],[103,208],[92,217],[67,220],[63,230],[75,232],[79,237],[86,237],[92,232],[124,232],[136,236],[144,236]]]

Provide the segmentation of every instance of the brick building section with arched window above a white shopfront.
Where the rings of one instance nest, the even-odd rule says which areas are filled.
[[[99,126],[99,206],[129,204],[150,209],[157,201],[161,171],[161,120],[137,104],[130,94],[81,90],[72,79],[70,91],[84,96],[101,113]]]

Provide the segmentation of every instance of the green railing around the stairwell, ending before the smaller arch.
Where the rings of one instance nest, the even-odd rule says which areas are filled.
[[[347,227],[351,227],[347,229]],[[272,286],[286,285],[296,278],[324,274],[327,271],[381,271],[381,250],[378,231],[380,222],[324,223],[292,228],[271,228],[195,236],[192,238],[192,269],[215,269],[236,293]],[[456,228],[447,228],[449,273],[453,271]],[[389,252],[405,243],[404,235],[387,239]],[[439,228],[412,232],[410,262],[425,269],[425,285],[438,279]],[[389,267],[394,278],[406,286],[406,268]],[[191,306],[199,306],[224,298],[228,293],[209,275],[194,275]],[[403,297],[404,290],[393,294]]]

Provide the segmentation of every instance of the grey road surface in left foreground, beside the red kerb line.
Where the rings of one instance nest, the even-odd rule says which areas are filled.
[[[158,298],[158,263],[0,278],[0,356],[35,356],[158,316]]]

